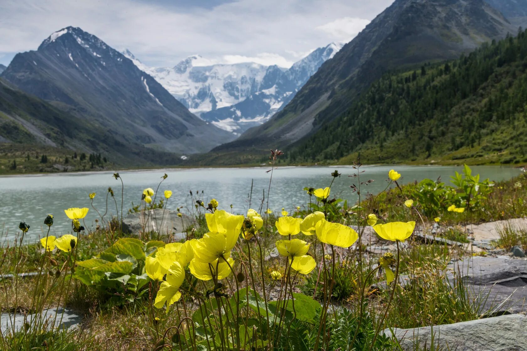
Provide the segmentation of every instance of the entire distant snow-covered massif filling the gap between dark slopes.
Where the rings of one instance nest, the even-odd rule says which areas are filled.
[[[128,49],[122,54],[204,121],[240,135],[287,105],[342,46],[331,43],[317,48],[290,68],[257,63],[210,64],[199,55],[173,68],[153,68],[141,63]]]

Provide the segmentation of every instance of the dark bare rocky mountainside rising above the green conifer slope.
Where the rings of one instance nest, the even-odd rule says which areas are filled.
[[[284,148],[347,111],[383,73],[456,58],[517,31],[483,0],[396,0],[324,63],[282,111],[213,151]]]

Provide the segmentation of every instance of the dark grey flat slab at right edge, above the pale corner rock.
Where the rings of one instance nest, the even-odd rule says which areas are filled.
[[[448,270],[452,284],[461,274],[470,294],[481,296],[483,311],[527,311],[527,259],[476,256],[451,263]]]

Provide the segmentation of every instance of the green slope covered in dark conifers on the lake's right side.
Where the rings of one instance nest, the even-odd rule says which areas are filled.
[[[527,33],[460,59],[387,74],[291,162],[527,162]]]

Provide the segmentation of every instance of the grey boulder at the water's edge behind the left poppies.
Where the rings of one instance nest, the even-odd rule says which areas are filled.
[[[161,234],[176,234],[175,239],[182,239],[183,232],[193,224],[190,216],[174,210],[156,208],[146,212],[128,214],[123,220],[123,231],[139,235],[141,232],[158,232]],[[144,229],[143,229],[144,228]]]

